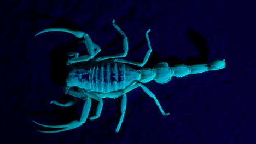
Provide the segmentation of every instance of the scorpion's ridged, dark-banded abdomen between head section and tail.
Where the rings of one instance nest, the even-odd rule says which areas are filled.
[[[103,62],[90,67],[91,91],[109,93],[125,89],[140,77],[134,70],[122,63]]]

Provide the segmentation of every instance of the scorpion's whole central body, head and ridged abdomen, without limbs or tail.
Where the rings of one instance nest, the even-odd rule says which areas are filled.
[[[103,62],[87,67],[73,67],[68,74],[68,87],[79,87],[85,91],[108,93],[118,91],[137,82],[141,77],[138,71],[125,64]]]

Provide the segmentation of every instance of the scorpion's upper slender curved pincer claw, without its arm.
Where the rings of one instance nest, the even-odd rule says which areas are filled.
[[[82,31],[74,31],[74,30],[70,30],[67,28],[48,28],[48,29],[44,29],[43,31],[39,32],[38,34],[36,34],[34,36],[36,37],[37,35],[46,33],[46,32],[66,32],[66,33],[73,34],[77,38],[83,38],[85,35],[85,33]]]

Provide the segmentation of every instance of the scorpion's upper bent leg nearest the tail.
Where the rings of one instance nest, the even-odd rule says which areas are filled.
[[[150,56],[150,53],[152,52],[150,40],[149,40],[149,38],[148,38],[148,33],[149,33],[149,32],[150,32],[150,29],[148,29],[148,31],[145,33],[149,50],[147,51],[146,55],[144,56],[144,59],[143,59],[143,62],[142,62],[142,63],[139,63],[139,62],[131,62],[131,61],[127,61],[127,60],[125,60],[125,59],[115,59],[115,61],[116,61],[116,62],[119,62],[119,63],[127,63],[127,64],[132,64],[132,65],[137,65],[137,66],[139,66],[139,67],[143,67],[143,66],[147,63],[148,58],[149,58],[149,56]]]

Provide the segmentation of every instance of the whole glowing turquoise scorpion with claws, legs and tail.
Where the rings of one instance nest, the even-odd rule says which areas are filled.
[[[126,61],[124,59],[119,59],[121,57],[126,57],[128,53],[128,39],[125,33],[121,30],[119,26],[115,24],[115,20],[113,19],[112,25],[117,31],[123,35],[123,50],[124,53],[120,53],[112,56],[103,56],[94,58],[97,53],[101,51],[100,47],[92,42],[91,38],[87,33],[82,31],[74,31],[66,28],[48,28],[40,31],[35,36],[45,33],[45,32],[66,32],[73,34],[77,38],[84,38],[83,43],[86,45],[86,50],[88,55],[79,56],[78,52],[69,52],[68,56],[73,57],[68,59],[67,64],[71,67],[67,77],[66,77],[66,85],[63,87],[63,91],[65,94],[69,94],[74,97],[73,101],[69,101],[65,104],[59,103],[55,100],[51,101],[51,104],[55,104],[58,106],[72,106],[77,103],[77,98],[85,100],[82,115],[78,120],[74,120],[71,123],[64,125],[44,125],[33,121],[34,123],[48,128],[60,128],[58,130],[53,131],[42,131],[43,133],[58,133],[61,131],[71,130],[80,127],[83,123],[88,119],[89,112],[91,109],[91,99],[95,99],[98,102],[96,115],[89,117],[90,120],[96,119],[100,117],[102,107],[103,107],[103,98],[118,98],[123,96],[121,100],[121,117],[119,119],[119,123],[115,132],[121,128],[121,124],[123,123],[123,119],[125,116],[127,96],[126,93],[132,91],[135,88],[141,87],[144,92],[146,92],[149,97],[153,98],[156,105],[159,107],[162,115],[167,116],[170,113],[165,113],[162,109],[158,99],[156,99],[155,95],[142,83],[147,83],[151,80],[155,80],[155,82],[164,84],[171,80],[172,77],[184,77],[189,74],[198,74],[211,70],[219,70],[226,67],[225,59],[216,60],[210,64],[195,64],[195,65],[184,65],[179,64],[174,67],[168,67],[168,63],[158,63],[153,69],[150,68],[142,68],[139,70],[134,70],[125,64],[136,65],[139,67],[143,67],[144,64],[147,63],[150,53],[152,52],[152,47],[150,44],[150,40],[148,37],[148,33],[150,29],[145,33],[148,51],[144,56],[143,62],[132,62]],[[85,63],[80,64],[78,67],[74,67],[75,63]]]

